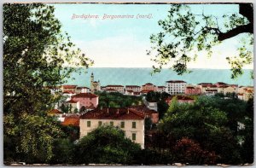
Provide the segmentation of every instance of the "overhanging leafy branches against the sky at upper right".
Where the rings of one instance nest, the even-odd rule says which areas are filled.
[[[172,4],[166,20],[159,20],[162,31],[150,36],[152,43],[148,55],[156,53],[154,72],[168,65],[183,74],[190,72],[187,63],[196,60],[196,53],[206,50],[212,55],[212,46],[224,40],[243,35],[238,47],[239,55],[226,57],[232,71],[231,78],[242,74],[242,67],[253,62],[253,4],[240,3],[239,14],[224,14],[217,18],[212,14],[194,14],[193,5]]]

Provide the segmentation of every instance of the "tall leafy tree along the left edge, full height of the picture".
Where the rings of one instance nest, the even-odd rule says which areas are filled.
[[[14,160],[45,163],[53,157],[61,131],[46,113],[60,96],[46,86],[63,84],[75,67],[92,63],[61,32],[54,10],[43,3],[3,5],[3,130]]]

